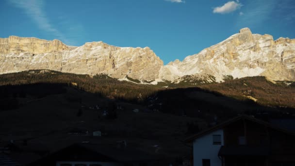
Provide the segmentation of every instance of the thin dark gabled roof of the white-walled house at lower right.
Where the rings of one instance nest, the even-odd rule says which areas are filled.
[[[197,138],[199,138],[199,137],[201,137],[203,135],[206,135],[208,133],[212,133],[213,131],[222,129],[225,126],[227,126],[227,125],[229,125],[229,124],[231,124],[233,122],[239,121],[239,120],[249,120],[249,121],[264,125],[266,127],[272,128],[272,129],[280,131],[280,132],[295,135],[294,132],[291,132],[291,131],[288,131],[286,129],[280,128],[278,126],[275,126],[275,125],[273,125],[271,123],[268,123],[268,122],[265,122],[263,120],[260,120],[260,119],[257,119],[257,118],[251,117],[251,116],[241,115],[241,116],[236,116],[236,117],[234,117],[232,119],[229,119],[229,120],[227,120],[225,122],[222,122],[222,123],[220,123],[220,124],[218,124],[216,126],[213,126],[213,127],[209,128],[209,129],[207,129],[207,130],[201,131],[200,133],[194,134],[194,135],[188,137],[187,139],[185,139],[184,142],[187,142],[187,143],[188,142],[193,142],[195,139],[197,139]]]

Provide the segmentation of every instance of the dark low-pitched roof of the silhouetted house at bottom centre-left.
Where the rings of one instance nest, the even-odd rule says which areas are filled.
[[[79,143],[53,152],[29,166],[47,166],[55,164],[56,161],[92,161],[92,162],[155,162],[155,155],[132,148],[116,148],[113,145]]]

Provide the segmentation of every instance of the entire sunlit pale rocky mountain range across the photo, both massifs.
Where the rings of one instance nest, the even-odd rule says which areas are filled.
[[[228,39],[166,66],[146,48],[121,48],[103,42],[66,46],[59,40],[10,36],[0,38],[0,74],[51,69],[77,74],[108,74],[141,81],[180,82],[200,79],[222,82],[228,76],[266,76],[295,81],[295,39],[252,34],[248,28]],[[189,76],[189,77],[188,77]]]

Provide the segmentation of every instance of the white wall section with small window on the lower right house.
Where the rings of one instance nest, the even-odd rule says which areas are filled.
[[[213,135],[221,135],[221,145],[213,145]],[[218,152],[224,145],[223,130],[217,130],[194,140],[194,166],[202,166],[202,159],[210,159],[211,166],[221,166]]]

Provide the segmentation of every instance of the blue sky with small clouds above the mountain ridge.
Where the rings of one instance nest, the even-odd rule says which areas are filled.
[[[0,0],[0,20],[1,38],[149,47],[167,64],[244,27],[295,38],[295,0]]]

